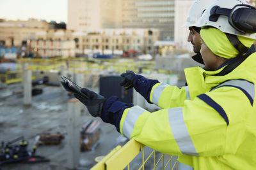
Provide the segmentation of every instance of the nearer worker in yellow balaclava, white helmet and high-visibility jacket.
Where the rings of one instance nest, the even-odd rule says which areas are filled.
[[[202,27],[205,68],[185,69],[188,87],[134,74],[128,74],[131,85],[124,83],[143,87],[141,94],[162,110],[150,113],[85,88],[88,99],[75,96],[126,138],[183,156],[191,169],[255,169],[256,53],[246,52],[256,39],[256,8],[244,0],[217,0],[195,26]]]

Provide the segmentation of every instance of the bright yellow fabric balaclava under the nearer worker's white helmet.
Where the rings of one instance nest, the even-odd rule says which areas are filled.
[[[211,52],[213,52],[215,55],[225,59],[232,59],[239,54],[238,50],[236,50],[236,48],[228,40],[226,34],[221,32],[219,29],[214,27],[201,29],[200,36],[208,48],[210,48]],[[244,46],[249,48],[255,41],[255,39],[246,38],[243,36],[237,36],[237,38],[239,41],[241,41],[241,43],[243,43]]]

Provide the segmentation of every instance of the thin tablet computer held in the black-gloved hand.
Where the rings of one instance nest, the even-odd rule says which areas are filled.
[[[76,83],[74,83],[73,81],[69,80],[67,77],[65,76],[61,76],[62,78],[62,82],[61,84],[63,85],[64,89],[67,90],[68,92],[72,92],[75,93],[77,95],[79,95],[80,97],[83,97],[84,99],[89,99],[88,96],[86,96],[86,94],[84,94],[83,92],[81,92],[81,87],[79,87],[79,85],[77,85]]]

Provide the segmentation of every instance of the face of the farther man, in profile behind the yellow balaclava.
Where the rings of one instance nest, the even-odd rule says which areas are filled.
[[[199,53],[201,49],[200,34],[193,27],[189,27],[188,41],[193,45],[194,52]]]

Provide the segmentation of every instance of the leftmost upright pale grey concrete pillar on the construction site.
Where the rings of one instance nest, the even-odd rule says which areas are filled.
[[[23,85],[23,95],[24,104],[32,104],[32,71],[28,69],[28,64],[22,65],[22,85]]]

